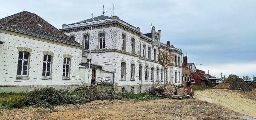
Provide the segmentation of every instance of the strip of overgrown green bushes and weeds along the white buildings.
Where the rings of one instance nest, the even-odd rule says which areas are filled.
[[[153,87],[141,94],[134,94],[132,92],[115,92],[114,90],[101,91],[93,88],[88,92],[56,90],[53,87],[34,89],[31,92],[18,94],[16,93],[1,93],[0,96],[5,96],[9,99],[0,101],[2,108],[21,108],[24,106],[43,106],[45,108],[52,108],[56,105],[64,104],[80,104],[87,103],[94,100],[114,100],[114,99],[158,99],[154,95]],[[0,106],[0,107],[1,107]]]

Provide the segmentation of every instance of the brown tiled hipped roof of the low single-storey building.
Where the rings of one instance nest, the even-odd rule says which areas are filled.
[[[38,24],[42,27],[39,27],[40,25]],[[48,39],[54,39],[64,43],[80,45],[78,42],[70,39],[67,35],[53,27],[38,15],[27,11],[0,19],[0,27],[10,28]]]

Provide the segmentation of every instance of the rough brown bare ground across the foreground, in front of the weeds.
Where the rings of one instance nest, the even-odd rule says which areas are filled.
[[[57,106],[56,112],[47,113],[41,107],[0,110],[4,120],[241,120],[240,113],[197,99],[160,99],[137,101],[93,101],[82,105]]]

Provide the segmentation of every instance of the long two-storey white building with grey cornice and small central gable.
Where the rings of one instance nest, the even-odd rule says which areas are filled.
[[[182,51],[173,45],[160,43],[161,31],[143,34],[139,27],[134,27],[117,16],[98,16],[73,24],[62,25],[62,31],[83,46],[82,63],[101,68],[92,68],[92,74],[85,83],[97,84],[102,79],[114,81],[117,90],[141,92],[150,85],[164,84],[165,76],[168,84],[181,84]],[[90,46],[91,45],[91,46]],[[167,73],[158,62],[158,50],[169,47],[175,60]],[[91,58],[89,50],[91,49]],[[82,69],[80,70],[82,71]],[[85,69],[85,71],[88,71]],[[84,73],[85,76],[88,72]]]

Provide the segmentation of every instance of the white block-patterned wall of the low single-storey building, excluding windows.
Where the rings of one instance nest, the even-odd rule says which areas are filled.
[[[84,79],[78,76],[82,50],[25,37],[0,33],[0,85],[79,85]],[[29,79],[16,79],[18,47],[32,49],[29,63]],[[43,51],[54,53],[52,58],[52,79],[42,80]],[[62,80],[63,54],[72,56],[70,80]]]

